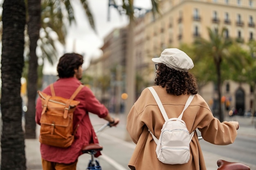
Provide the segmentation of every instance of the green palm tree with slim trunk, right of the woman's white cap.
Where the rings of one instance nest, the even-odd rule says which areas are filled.
[[[203,38],[195,40],[195,54],[197,57],[210,57],[209,61],[213,60],[215,65],[220,121],[224,120],[220,91],[223,80],[222,75],[224,75],[223,68],[229,67],[229,71],[233,71],[236,74],[235,72],[242,71],[243,66],[248,63],[245,51],[240,48],[239,44],[234,43],[234,41],[225,36],[226,31],[226,28],[222,28],[219,33],[218,29],[213,31],[208,28],[209,40]],[[223,67],[223,65],[226,65],[226,67]],[[228,75],[225,74],[225,76],[226,78],[232,78],[230,73]]]

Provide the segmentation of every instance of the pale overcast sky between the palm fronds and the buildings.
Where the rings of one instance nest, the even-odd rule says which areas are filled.
[[[117,4],[121,4],[121,0],[116,0]],[[84,11],[82,11],[79,0],[72,1],[75,11],[76,24],[68,29],[66,38],[66,45],[59,49],[59,55],[63,53],[80,53],[84,55],[85,62],[83,68],[88,67],[91,59],[96,59],[101,56],[100,50],[103,46],[103,39],[113,29],[126,26],[128,24],[128,17],[126,15],[120,16],[117,9],[110,7],[110,20],[108,16],[108,0],[88,0],[97,33],[90,27],[88,19]],[[135,7],[143,7],[145,9],[151,8],[150,0],[134,0]],[[56,63],[57,64],[57,63]],[[45,74],[56,74],[56,64],[51,66],[47,62],[43,69]]]

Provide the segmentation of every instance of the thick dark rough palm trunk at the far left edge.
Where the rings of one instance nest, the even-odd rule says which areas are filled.
[[[24,0],[5,0],[2,11],[1,169],[26,170],[20,78],[24,66]]]

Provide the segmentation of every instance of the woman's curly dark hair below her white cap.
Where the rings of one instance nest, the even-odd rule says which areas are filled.
[[[197,82],[193,74],[189,72],[177,71],[167,67],[165,64],[158,63],[156,71],[155,85],[166,87],[167,93],[173,95],[195,95],[198,92]]]

